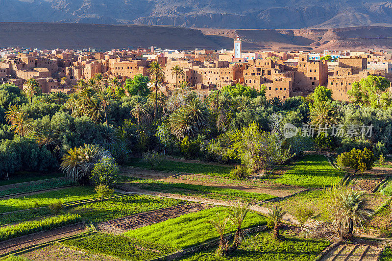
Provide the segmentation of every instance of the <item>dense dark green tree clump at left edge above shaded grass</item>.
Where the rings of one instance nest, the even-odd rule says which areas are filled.
[[[15,171],[46,172],[57,166],[55,158],[48,149],[39,147],[32,138],[15,136],[0,143],[0,176],[9,177]]]

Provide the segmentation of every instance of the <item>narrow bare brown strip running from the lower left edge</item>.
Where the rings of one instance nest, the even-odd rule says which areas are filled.
[[[49,231],[38,232],[23,237],[12,238],[0,242],[0,254],[5,254],[25,247],[42,244],[55,239],[70,237],[86,231],[84,223],[73,224],[65,227],[55,228]]]

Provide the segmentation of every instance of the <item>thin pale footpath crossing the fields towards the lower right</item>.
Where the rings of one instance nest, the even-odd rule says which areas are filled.
[[[171,194],[171,193],[163,193],[163,192],[155,192],[155,191],[148,191],[148,190],[137,190],[137,191],[123,191],[123,190],[115,190],[116,192],[120,192],[123,194],[141,194],[141,195],[147,195],[147,196],[155,196],[155,197],[165,197],[165,198],[172,198],[172,199],[178,199],[178,200],[186,200],[186,201],[191,201],[191,202],[197,202],[197,203],[202,203],[202,204],[210,204],[214,206],[231,206],[232,202],[230,201],[223,201],[223,200],[217,200],[217,199],[206,199],[206,198],[200,198],[200,197],[195,197],[195,196],[184,196],[184,195],[179,195],[179,194]],[[268,214],[270,212],[270,209],[261,207],[259,204],[255,204],[250,206],[250,210],[259,212],[261,214]],[[299,222],[294,218],[293,215],[291,214],[285,214],[283,217],[283,220],[292,223],[292,224],[299,224]]]

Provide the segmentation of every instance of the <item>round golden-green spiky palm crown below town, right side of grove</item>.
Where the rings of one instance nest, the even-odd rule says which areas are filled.
[[[337,117],[337,111],[333,108],[331,102],[321,101],[315,103],[310,108],[311,124],[316,127],[332,125],[334,119]]]

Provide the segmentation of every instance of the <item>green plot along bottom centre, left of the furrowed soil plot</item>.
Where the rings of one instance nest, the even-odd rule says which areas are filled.
[[[270,233],[263,232],[252,237],[257,246],[254,249],[252,243],[242,243],[239,249],[229,257],[217,257],[216,248],[201,251],[196,254],[189,254],[181,261],[314,261],[316,256],[325,249],[330,242],[301,239],[296,237],[286,237],[282,241],[272,238]]]

